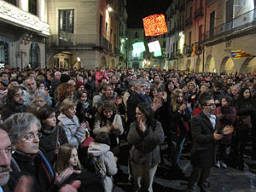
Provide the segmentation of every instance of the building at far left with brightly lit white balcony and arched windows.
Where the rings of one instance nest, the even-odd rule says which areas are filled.
[[[0,0],[0,63],[7,67],[45,67],[49,38],[45,0]]]

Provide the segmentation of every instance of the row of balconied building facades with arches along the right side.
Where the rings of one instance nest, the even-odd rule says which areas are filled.
[[[182,1],[172,1],[178,2]],[[254,0],[186,0],[184,13],[183,54],[176,56],[175,61],[166,59],[169,67],[195,72],[253,73],[256,68]],[[173,25],[175,18],[173,15],[170,18]],[[176,39],[175,34],[169,38]],[[171,44],[167,43],[166,49]],[[234,59],[231,54],[236,50],[253,57]]]

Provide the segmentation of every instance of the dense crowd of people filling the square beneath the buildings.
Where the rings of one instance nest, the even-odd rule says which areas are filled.
[[[189,148],[188,189],[256,159],[256,75],[156,69],[0,69],[0,191],[113,191],[129,143],[133,191]],[[6,137],[6,136],[9,137]],[[168,148],[161,149],[162,143]],[[20,178],[20,179],[19,179]]]

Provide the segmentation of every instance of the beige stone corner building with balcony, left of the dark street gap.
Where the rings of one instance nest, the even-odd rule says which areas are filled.
[[[113,68],[125,65],[125,55],[119,62],[119,35],[124,36],[127,19],[124,6],[125,1],[118,0],[49,0],[52,36],[47,45],[48,66]]]

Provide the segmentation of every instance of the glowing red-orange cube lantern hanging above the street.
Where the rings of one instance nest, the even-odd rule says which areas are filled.
[[[165,15],[149,15],[143,18],[145,36],[156,36],[167,31]]]

